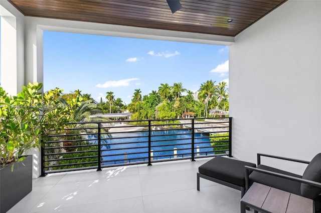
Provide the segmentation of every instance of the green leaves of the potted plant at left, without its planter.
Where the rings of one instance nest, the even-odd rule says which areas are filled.
[[[55,88],[42,95],[42,83],[23,86],[17,96],[0,87],[0,167],[21,161],[31,148],[40,147],[51,129],[62,129],[80,104],[79,98],[59,101],[62,89]]]

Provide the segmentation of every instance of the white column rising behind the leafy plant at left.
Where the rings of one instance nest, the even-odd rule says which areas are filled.
[[[16,95],[26,82],[43,82],[42,30],[26,24],[25,16],[7,0],[0,0],[0,15],[1,86]],[[33,154],[33,178],[37,178],[41,174],[40,151],[32,149],[27,154]]]

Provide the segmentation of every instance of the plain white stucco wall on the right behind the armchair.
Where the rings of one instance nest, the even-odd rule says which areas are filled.
[[[321,152],[321,1],[285,2],[235,37],[229,62],[234,157]]]

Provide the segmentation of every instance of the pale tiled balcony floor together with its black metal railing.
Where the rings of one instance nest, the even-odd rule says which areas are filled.
[[[231,155],[231,122],[126,120],[53,129],[42,149],[43,177],[9,212],[237,212],[240,191],[206,179],[196,189],[200,165]]]

